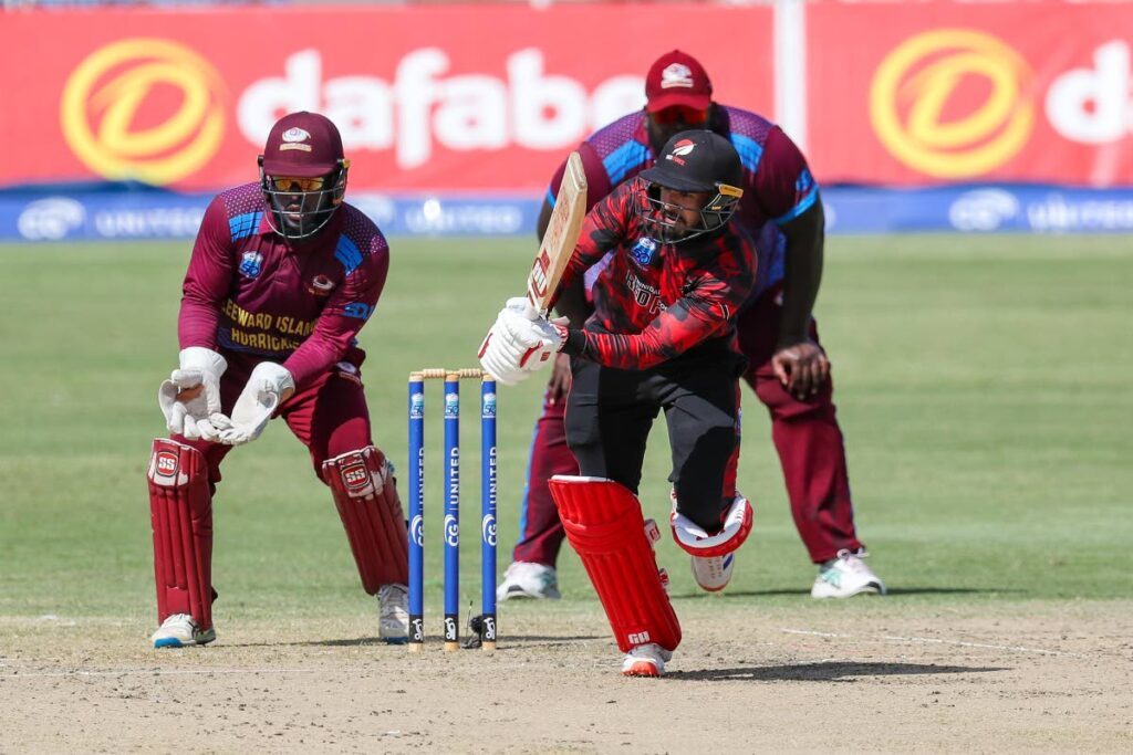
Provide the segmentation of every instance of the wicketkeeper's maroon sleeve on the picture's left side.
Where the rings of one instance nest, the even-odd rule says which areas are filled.
[[[181,311],[177,321],[181,349],[216,349],[221,306],[232,285],[231,246],[228,211],[218,196],[205,209],[181,285]]]

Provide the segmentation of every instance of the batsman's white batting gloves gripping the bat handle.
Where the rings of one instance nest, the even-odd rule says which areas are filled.
[[[497,381],[514,385],[550,363],[562,342],[559,329],[526,298],[509,299],[480,345],[480,366]]]

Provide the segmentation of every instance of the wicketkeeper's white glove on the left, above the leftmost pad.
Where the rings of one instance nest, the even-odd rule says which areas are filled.
[[[189,346],[181,350],[179,364],[157,389],[165,427],[188,440],[215,443],[221,430],[231,426],[220,405],[220,376],[228,362],[212,349]]]

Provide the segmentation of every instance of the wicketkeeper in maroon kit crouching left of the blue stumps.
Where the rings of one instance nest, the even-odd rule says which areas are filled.
[[[310,452],[347,531],[378,632],[408,640],[408,541],[390,465],[370,439],[356,336],[385,285],[389,247],[346,204],[349,162],[334,125],[291,113],[258,183],[205,212],[181,298],[180,366],[159,402],[170,438],[148,466],[157,620],[154,647],[205,644],[212,623],[212,496],[220,464],[273,415]]]

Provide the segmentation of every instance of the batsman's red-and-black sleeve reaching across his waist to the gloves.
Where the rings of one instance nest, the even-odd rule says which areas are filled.
[[[606,367],[645,370],[724,335],[755,283],[755,248],[746,237],[721,240],[718,264],[689,282],[681,299],[640,333],[572,331],[564,351]]]

